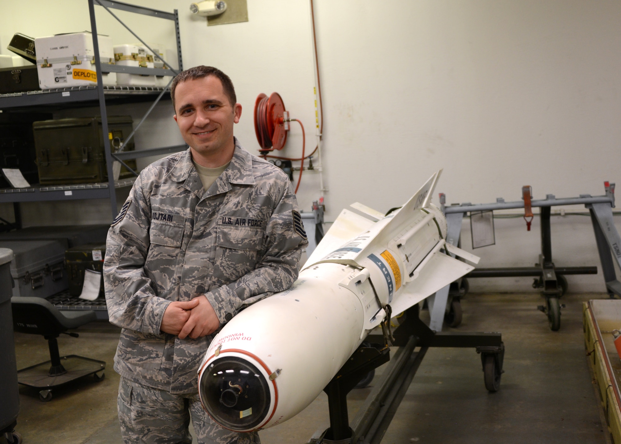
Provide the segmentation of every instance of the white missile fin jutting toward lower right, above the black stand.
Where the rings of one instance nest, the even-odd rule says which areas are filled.
[[[391,303],[392,313],[401,313],[419,303],[450,284],[461,276],[472,271],[473,266],[453,259],[453,257],[437,252],[425,266],[425,272],[409,284],[394,297]]]

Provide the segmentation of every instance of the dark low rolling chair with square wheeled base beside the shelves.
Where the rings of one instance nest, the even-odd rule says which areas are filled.
[[[96,359],[70,354],[60,356],[56,338],[70,328],[96,320],[93,310],[61,312],[52,303],[39,297],[12,297],[13,327],[20,333],[43,335],[50,348],[50,361],[45,361],[17,371],[17,382],[39,390],[39,399],[52,399],[52,389],[78,378],[93,375],[95,381],[104,379],[106,363]]]

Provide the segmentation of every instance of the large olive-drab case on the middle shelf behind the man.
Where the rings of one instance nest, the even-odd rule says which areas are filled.
[[[101,117],[47,120],[32,124],[37,149],[39,183],[65,185],[70,183],[107,182],[106,154]],[[119,146],[132,132],[130,116],[109,116],[107,137],[112,146]],[[113,148],[114,149],[114,148]],[[134,140],[125,151],[134,150]],[[125,160],[136,168],[135,160]],[[119,178],[134,177],[121,167]]]

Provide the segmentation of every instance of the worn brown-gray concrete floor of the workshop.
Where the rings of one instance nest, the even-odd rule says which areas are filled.
[[[605,443],[606,428],[585,358],[581,308],[582,301],[601,297],[605,295],[564,297],[561,330],[553,332],[537,311],[537,294],[468,295],[458,330],[502,332],[506,353],[501,390],[485,390],[481,361],[473,349],[430,349],[383,443]],[[122,443],[116,418],[119,376],[112,370],[119,330],[96,322],[78,331],[77,339],[61,335],[61,355],[106,361],[106,379],[59,391],[48,403],[21,387],[16,430],[25,444]],[[49,359],[45,341],[37,336],[16,333],[16,351],[18,368]],[[370,390],[350,393],[350,418]],[[328,423],[322,393],[301,414],[261,432],[261,442],[306,443]]]

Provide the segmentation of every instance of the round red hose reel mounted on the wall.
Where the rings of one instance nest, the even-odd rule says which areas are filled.
[[[289,112],[284,109],[278,93],[266,96],[261,93],[255,101],[255,132],[261,154],[283,149],[289,131]]]

